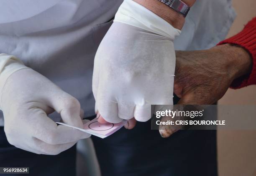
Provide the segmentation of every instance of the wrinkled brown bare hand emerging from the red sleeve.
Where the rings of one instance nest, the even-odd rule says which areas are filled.
[[[182,105],[210,105],[217,102],[234,79],[250,73],[251,57],[236,45],[218,45],[209,50],[177,51],[174,93]],[[166,120],[166,118],[164,118]],[[177,131],[161,126],[161,136]]]

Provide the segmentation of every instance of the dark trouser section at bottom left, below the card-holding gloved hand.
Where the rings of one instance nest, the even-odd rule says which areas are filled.
[[[21,150],[8,143],[0,127],[0,167],[29,167],[31,176],[75,176],[76,146],[56,156],[38,155]],[[0,174],[1,176],[26,176],[26,174]]]

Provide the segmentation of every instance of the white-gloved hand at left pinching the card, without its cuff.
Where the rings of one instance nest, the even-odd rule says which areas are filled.
[[[30,68],[10,75],[1,91],[4,130],[10,144],[38,154],[55,155],[88,138],[67,126],[57,126],[47,115],[60,113],[62,120],[82,128],[83,112],[74,97]]]

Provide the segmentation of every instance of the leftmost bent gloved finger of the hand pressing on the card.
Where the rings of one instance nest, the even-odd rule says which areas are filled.
[[[119,123],[123,119],[118,117],[118,104],[113,101],[97,101],[99,113],[105,121],[109,123]]]

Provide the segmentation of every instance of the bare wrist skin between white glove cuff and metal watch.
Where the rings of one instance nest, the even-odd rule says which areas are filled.
[[[168,7],[164,3],[161,3],[159,0],[133,0],[133,1],[144,6],[148,10],[151,10],[153,13],[155,13],[162,19],[166,20],[174,28],[181,30],[185,23],[185,18],[182,14],[177,13],[175,10]],[[195,3],[195,0],[182,0],[182,2],[186,3],[189,7],[191,7]]]

